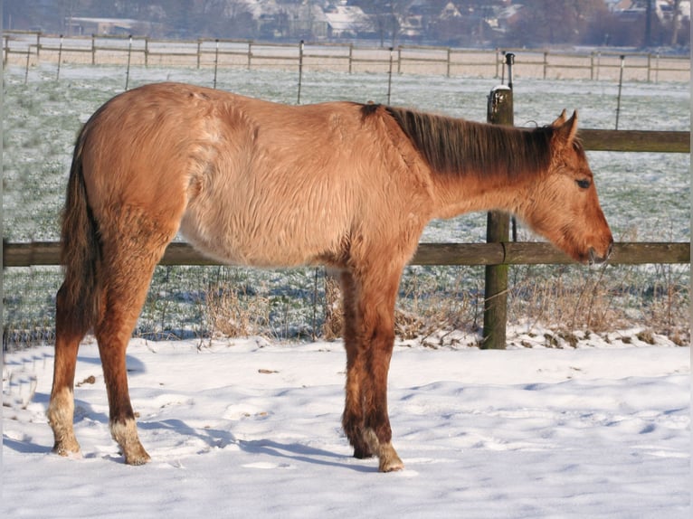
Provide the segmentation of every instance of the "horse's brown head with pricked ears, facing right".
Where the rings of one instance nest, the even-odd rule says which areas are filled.
[[[602,262],[612,251],[613,238],[584,148],[576,138],[577,112],[566,120],[564,110],[552,129],[548,171],[528,187],[520,215],[577,261]]]

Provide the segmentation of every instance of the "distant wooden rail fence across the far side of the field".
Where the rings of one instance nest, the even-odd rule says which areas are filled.
[[[41,62],[92,65],[188,66],[296,69],[306,71],[386,72],[391,63],[400,74],[448,77],[500,77],[503,50],[401,45],[394,49],[335,42],[268,43],[252,40],[157,40],[146,36],[63,38],[43,33],[6,31],[3,63],[27,67]],[[517,51],[517,77],[540,79],[688,81],[687,56],[652,52]],[[624,58],[622,60],[622,57]]]

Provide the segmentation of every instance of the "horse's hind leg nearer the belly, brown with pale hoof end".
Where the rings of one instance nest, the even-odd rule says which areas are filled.
[[[139,312],[147,297],[154,269],[174,232],[134,225],[123,236],[103,247],[104,310],[95,326],[106,390],[109,395],[109,428],[128,465],[150,459],[139,441],[135,413],[128,392],[126,349]]]

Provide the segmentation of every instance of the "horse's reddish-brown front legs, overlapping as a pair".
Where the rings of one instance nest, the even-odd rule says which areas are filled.
[[[356,458],[374,455],[381,472],[401,470],[404,465],[392,445],[387,412],[387,374],[394,347],[394,300],[401,270],[356,278],[353,315],[345,313],[347,352],[346,435]],[[345,305],[346,307],[346,305]],[[350,323],[350,324],[349,324]],[[350,335],[352,326],[354,336]]]

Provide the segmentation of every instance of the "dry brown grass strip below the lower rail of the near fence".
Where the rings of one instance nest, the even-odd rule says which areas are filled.
[[[575,345],[577,336],[639,328],[637,338],[651,343],[666,335],[675,344],[690,344],[686,266],[659,265],[643,274],[638,267],[523,266],[510,270],[508,325],[551,330],[547,346]],[[483,320],[483,288],[476,271],[457,269],[447,277],[437,270],[410,271],[403,279],[395,310],[395,334],[403,340],[443,344],[454,332],[479,335]],[[310,302],[313,338],[336,340],[344,316],[336,278],[316,275],[323,283]],[[212,335],[275,336],[272,304],[262,290],[215,285],[204,310]],[[308,302],[304,301],[304,304]],[[290,319],[291,317],[287,317]],[[577,335],[576,335],[577,334]]]

